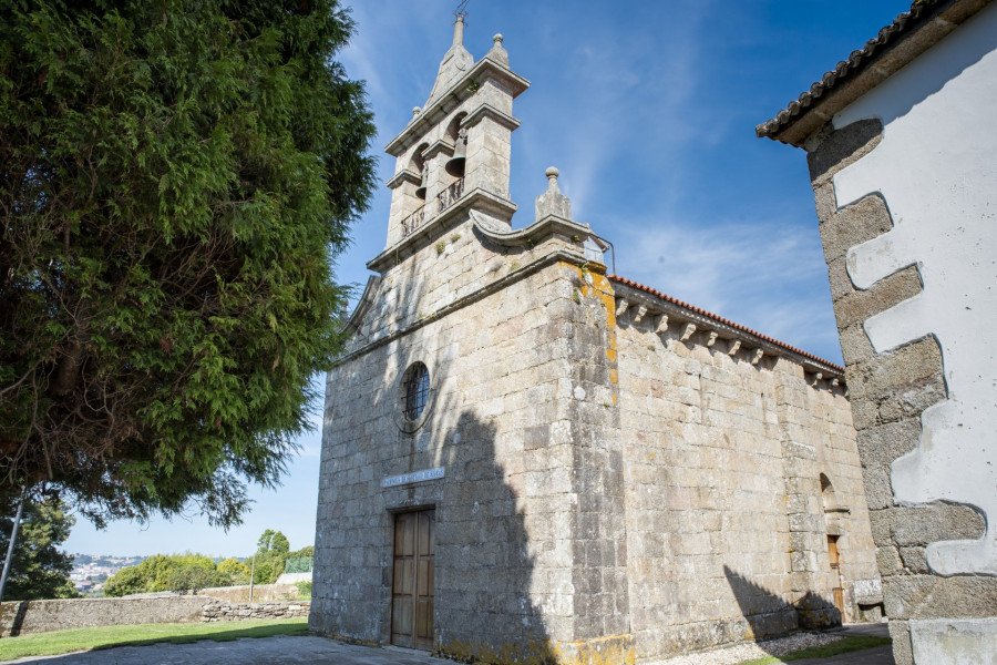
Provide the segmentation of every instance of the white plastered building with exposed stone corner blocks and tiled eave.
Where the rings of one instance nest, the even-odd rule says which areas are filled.
[[[997,663],[997,4],[915,3],[837,73],[759,134],[808,151],[894,656]]]

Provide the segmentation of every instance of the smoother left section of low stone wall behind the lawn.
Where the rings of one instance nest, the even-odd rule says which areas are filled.
[[[0,637],[144,623],[203,621],[205,596],[12,601],[0,604]]]

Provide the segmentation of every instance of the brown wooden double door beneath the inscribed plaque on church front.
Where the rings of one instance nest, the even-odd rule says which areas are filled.
[[[394,518],[394,581],[391,592],[391,643],[433,648],[433,561],[435,512]]]

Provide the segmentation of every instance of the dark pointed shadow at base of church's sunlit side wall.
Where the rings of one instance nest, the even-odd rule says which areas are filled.
[[[738,601],[741,614],[751,627],[756,642],[765,648],[764,640],[784,636],[795,630],[820,630],[841,626],[841,612],[820,594],[806,592],[795,603],[723,566],[723,574]]]

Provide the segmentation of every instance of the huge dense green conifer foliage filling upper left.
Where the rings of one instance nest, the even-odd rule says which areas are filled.
[[[337,0],[0,6],[0,495],[237,523],[307,428],[373,183]]]

